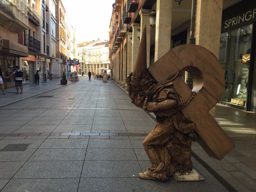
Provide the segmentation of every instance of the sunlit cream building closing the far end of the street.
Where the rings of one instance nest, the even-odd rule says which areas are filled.
[[[110,72],[109,60],[109,42],[102,42],[100,40],[83,42],[77,45],[78,48],[78,73],[82,71],[86,74],[89,71],[96,75],[103,74],[102,70],[98,68],[107,68]]]

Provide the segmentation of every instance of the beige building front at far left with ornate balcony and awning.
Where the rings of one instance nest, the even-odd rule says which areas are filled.
[[[22,33],[29,30],[27,2],[17,0],[0,2],[0,67],[9,76],[15,65],[21,68],[21,57],[28,57],[28,47],[23,45]],[[34,59],[34,58],[32,58]],[[15,86],[14,78],[4,81],[5,88]]]

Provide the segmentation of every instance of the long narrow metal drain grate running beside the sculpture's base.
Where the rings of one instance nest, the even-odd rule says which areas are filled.
[[[192,156],[197,160],[215,179],[217,179],[228,191],[237,190],[230,185],[223,177],[221,177],[216,171],[214,171],[206,162],[204,162],[199,156],[197,156],[193,151],[191,151]]]

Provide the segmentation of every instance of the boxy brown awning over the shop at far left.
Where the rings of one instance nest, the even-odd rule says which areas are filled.
[[[28,47],[15,43],[8,39],[3,39],[1,52],[9,53],[10,56],[27,57]]]

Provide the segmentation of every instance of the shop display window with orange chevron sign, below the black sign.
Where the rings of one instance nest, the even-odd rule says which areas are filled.
[[[219,61],[225,76],[221,102],[246,107],[252,25],[221,34]]]

